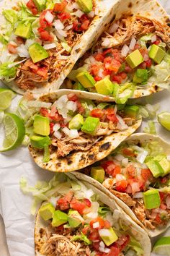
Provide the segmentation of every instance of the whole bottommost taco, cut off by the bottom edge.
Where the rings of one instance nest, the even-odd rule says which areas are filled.
[[[35,220],[35,255],[150,255],[146,231],[91,184],[67,179],[50,195]]]

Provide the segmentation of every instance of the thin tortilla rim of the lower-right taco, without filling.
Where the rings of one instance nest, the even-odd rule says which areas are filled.
[[[162,140],[161,137],[158,137],[156,135],[149,135],[149,134],[145,134],[145,133],[136,133],[136,134],[133,134],[130,137],[128,137],[125,141],[126,142],[132,142],[132,143],[133,142],[145,143],[145,142],[155,142],[155,141],[157,141],[159,143],[159,145],[161,145],[161,148],[164,149],[164,153],[166,153],[167,155],[170,155],[170,145],[169,145],[169,143],[167,143],[165,140]],[[97,187],[98,189],[103,191],[105,194],[107,194],[110,198],[115,200],[117,202],[117,204],[120,205],[120,207],[123,210],[125,210],[125,213],[127,213],[131,218],[133,218],[133,220],[136,223],[138,223],[141,227],[143,227],[143,229],[146,229],[145,226],[143,226],[143,223],[141,223],[138,220],[138,218],[135,216],[133,211],[130,210],[128,205],[126,205],[125,202],[122,202],[122,200],[120,200],[115,195],[113,195],[111,192],[109,192],[109,190],[106,189],[104,186],[102,186],[101,183],[92,179],[90,176],[86,176],[85,174],[82,174],[82,173],[79,173],[79,172],[74,172],[73,174],[76,176],[77,179],[82,179],[84,181],[88,181],[89,183],[93,184],[95,187]],[[146,229],[146,231],[147,231],[149,236],[154,237],[154,236],[158,236],[159,234],[166,231],[166,229],[168,229],[169,226],[170,226],[170,221],[169,221],[167,226],[161,227],[159,229],[157,228],[154,231],[152,231],[150,229]]]

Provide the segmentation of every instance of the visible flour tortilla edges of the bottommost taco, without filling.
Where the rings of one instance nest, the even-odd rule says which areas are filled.
[[[72,174],[67,174],[71,179],[75,179],[75,177]],[[144,255],[149,256],[151,254],[151,241],[146,234],[146,231],[144,231],[140,226],[138,226],[135,221],[133,221],[121,208],[119,205],[117,205],[117,202],[115,200],[112,200],[107,195],[104,194],[101,190],[94,187],[92,184],[89,184],[89,182],[84,181],[84,177],[82,176],[82,179],[80,177],[79,181],[83,182],[86,187],[89,189],[92,189],[95,194],[99,196],[99,200],[103,202],[105,205],[107,205],[110,210],[114,211],[115,209],[120,211],[120,219],[122,221],[122,225],[125,225],[129,227],[128,233],[135,237],[138,242],[143,247]],[[37,213],[36,219],[35,219],[35,255],[36,256],[43,256],[41,254],[41,248],[43,244],[45,244],[46,236],[45,232],[47,232],[49,235],[53,233],[53,229],[45,223],[45,221],[42,220],[40,217],[40,214]]]

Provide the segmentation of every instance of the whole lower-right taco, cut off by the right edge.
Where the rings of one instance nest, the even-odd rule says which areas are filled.
[[[157,236],[170,225],[169,155],[170,145],[160,137],[134,134],[84,169],[89,178],[75,175],[107,192],[150,236]]]

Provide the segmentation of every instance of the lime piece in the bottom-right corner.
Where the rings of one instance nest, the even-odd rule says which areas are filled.
[[[170,256],[170,236],[161,237],[153,246],[153,252],[159,255]]]

